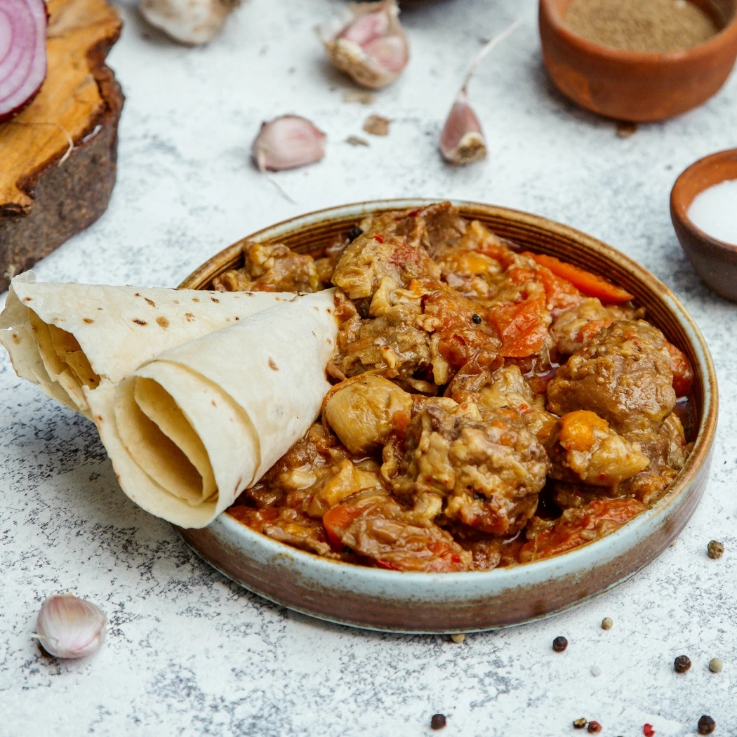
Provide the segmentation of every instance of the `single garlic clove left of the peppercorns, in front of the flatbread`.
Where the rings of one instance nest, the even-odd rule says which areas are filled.
[[[38,612],[34,637],[55,657],[85,657],[105,640],[108,619],[90,601],[74,594],[49,596]]]

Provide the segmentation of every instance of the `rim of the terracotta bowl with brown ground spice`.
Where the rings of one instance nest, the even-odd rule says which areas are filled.
[[[737,51],[737,7],[733,17],[718,33],[703,43],[697,43],[682,51],[671,52],[643,52],[628,51],[627,49],[615,49],[603,43],[595,43],[587,38],[571,31],[556,8],[556,0],[540,0],[540,8],[544,10],[551,27],[555,32],[565,38],[579,51],[589,55],[607,58],[621,63],[641,64],[649,63],[657,66],[668,66],[684,60],[698,60],[719,53],[723,46],[735,46]]]

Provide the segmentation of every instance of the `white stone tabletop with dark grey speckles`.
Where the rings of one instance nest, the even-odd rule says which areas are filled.
[[[675,737],[705,713],[717,735],[737,734],[737,308],[694,276],[668,216],[677,174],[737,145],[737,76],[700,110],[621,139],[551,88],[534,0],[416,1],[402,16],[411,64],[366,107],[343,102],[352,86],[312,32],[341,5],[250,0],[221,38],[186,49],[121,4],[118,184],[107,214],[38,265],[41,279],[173,286],[256,228],[353,200],[455,197],[544,214],[634,256],[699,323],[722,390],[705,499],[677,545],[573,612],[463,645],[360,632],[276,607],[200,562],[122,495],[91,423],[21,383],[3,354],[0,735],[413,737],[430,734],[436,712],[448,737],[569,735],[581,716],[612,737],[646,722]],[[467,63],[519,15],[525,26],[471,87],[489,158],[445,167],[436,143]],[[286,112],[329,136],[321,164],[279,175],[295,203],[248,161],[262,119]],[[392,119],[388,137],[362,133],[369,113]],[[727,548],[718,561],[712,538]],[[111,621],[104,649],[81,662],[41,657],[30,638],[43,598],[66,590]],[[553,653],[556,635],[565,653]],[[673,671],[679,654],[688,674]],[[708,670],[715,655],[721,674]]]

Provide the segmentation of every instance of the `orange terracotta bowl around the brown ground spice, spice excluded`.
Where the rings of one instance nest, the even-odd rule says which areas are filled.
[[[719,32],[669,52],[618,49],[574,33],[565,21],[573,1],[540,0],[542,57],[559,90],[594,113],[630,122],[671,118],[709,99],[733,69],[737,0],[689,0]]]

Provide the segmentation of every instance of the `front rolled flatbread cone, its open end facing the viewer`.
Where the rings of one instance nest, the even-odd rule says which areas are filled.
[[[335,290],[294,298],[85,388],[123,491],[205,527],[317,418],[330,388]]]

